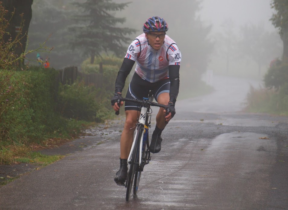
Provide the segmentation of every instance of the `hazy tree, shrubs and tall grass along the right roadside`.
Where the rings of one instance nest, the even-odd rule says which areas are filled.
[[[265,87],[250,89],[246,111],[288,116],[288,2],[273,0],[275,10],[270,21],[278,29],[283,41],[283,55],[270,63],[264,76]]]

